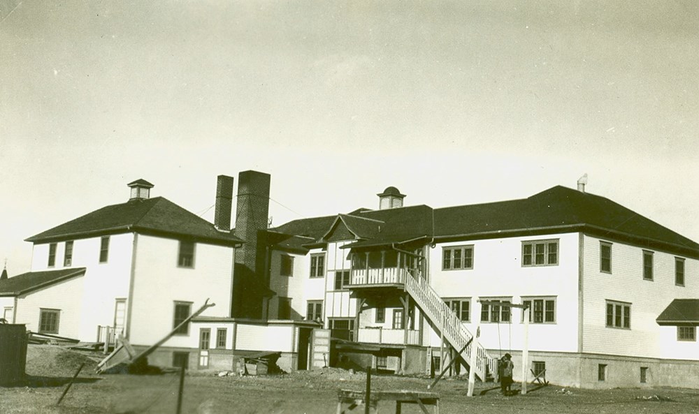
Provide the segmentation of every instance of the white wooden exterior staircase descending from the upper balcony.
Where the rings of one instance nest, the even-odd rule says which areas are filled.
[[[449,309],[449,306],[434,291],[427,281],[417,274],[405,277],[405,291],[410,294],[413,300],[424,315],[430,320],[433,326],[442,332],[445,340],[454,350],[461,350],[473,337],[456,313]],[[473,345],[466,346],[466,350],[461,353],[461,357],[470,365],[471,353],[474,352]],[[475,371],[475,375],[482,381],[486,381],[489,376],[497,373],[498,360],[491,357],[485,348],[477,344],[475,367],[470,367]]]

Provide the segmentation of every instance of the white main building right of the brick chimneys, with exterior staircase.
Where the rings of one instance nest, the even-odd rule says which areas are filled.
[[[404,197],[389,187],[377,210],[271,230],[269,315],[321,318],[343,339],[333,362],[404,373],[480,329],[474,369],[487,378],[525,343],[523,309],[498,301],[525,304],[528,380],[545,369],[566,386],[699,386],[696,242],[582,185],[440,209]]]

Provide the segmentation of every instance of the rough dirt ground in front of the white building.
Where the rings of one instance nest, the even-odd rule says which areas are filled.
[[[0,414],[24,413],[175,413],[178,375],[94,374],[100,355],[58,346],[29,346],[27,383],[0,387]],[[62,403],[56,402],[80,364],[85,368]],[[373,390],[426,391],[429,378],[372,376]],[[366,375],[323,369],[280,376],[225,376],[191,373],[185,377],[182,413],[335,413],[337,391],[363,390]],[[643,414],[698,413],[699,390],[635,388],[578,390],[532,387],[526,396],[504,397],[497,384],[477,383],[476,396],[466,397],[466,378],[440,381],[440,413],[479,414]],[[394,413],[394,404],[379,404],[379,413]],[[363,413],[363,406],[354,413]],[[419,413],[403,406],[403,413]]]

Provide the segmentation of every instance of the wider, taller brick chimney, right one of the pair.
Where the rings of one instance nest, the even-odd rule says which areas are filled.
[[[238,174],[236,236],[245,241],[236,249],[233,276],[233,317],[261,318],[263,297],[268,292],[266,237],[269,216],[269,174],[243,171]]]

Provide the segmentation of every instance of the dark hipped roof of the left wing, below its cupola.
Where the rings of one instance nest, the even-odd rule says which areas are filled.
[[[241,239],[220,232],[212,223],[162,197],[134,199],[95,210],[78,219],[31,236],[27,242],[53,242],[119,232],[142,232],[187,237],[201,242],[233,246]]]

